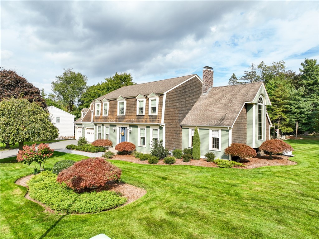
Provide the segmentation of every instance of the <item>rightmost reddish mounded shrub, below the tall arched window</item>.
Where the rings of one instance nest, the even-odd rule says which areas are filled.
[[[272,159],[272,154],[282,154],[284,151],[293,151],[293,148],[280,139],[269,139],[261,144],[259,150],[269,155]]]

